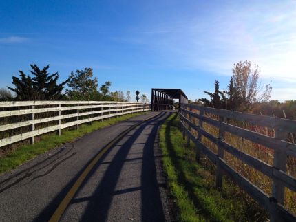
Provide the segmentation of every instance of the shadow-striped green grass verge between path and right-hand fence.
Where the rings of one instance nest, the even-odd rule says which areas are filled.
[[[264,221],[264,213],[242,199],[242,191],[225,181],[215,189],[213,170],[195,162],[193,144],[185,148],[178,114],[160,129],[160,147],[171,194],[176,199],[179,221]],[[253,203],[252,203],[253,204]],[[263,215],[263,216],[262,216]]]

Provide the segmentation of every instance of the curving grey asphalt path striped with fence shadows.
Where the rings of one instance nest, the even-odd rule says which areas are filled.
[[[151,112],[99,129],[1,175],[0,221],[54,221],[53,215],[60,221],[172,221],[158,147],[158,129],[169,115]]]

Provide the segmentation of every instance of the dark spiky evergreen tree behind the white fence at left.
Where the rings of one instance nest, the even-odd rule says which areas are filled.
[[[12,76],[12,84],[15,87],[8,87],[8,89],[16,93],[16,100],[59,100],[64,98],[63,87],[69,79],[57,84],[59,73],[49,74],[47,69],[50,65],[43,67],[43,69],[39,69],[36,64],[30,65],[30,67],[33,78],[25,75],[21,70],[19,71],[20,78]]]

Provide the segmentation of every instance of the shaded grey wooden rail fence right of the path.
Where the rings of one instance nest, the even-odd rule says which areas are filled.
[[[222,175],[228,175],[242,190],[265,208],[271,215],[271,221],[296,221],[295,214],[284,207],[285,189],[296,192],[296,179],[287,173],[287,159],[296,157],[296,144],[288,142],[288,136],[293,137],[292,133],[296,132],[295,120],[200,107],[193,104],[181,104],[180,120],[183,136],[187,135],[187,144],[191,140],[198,148],[197,160],[200,158],[199,153],[203,153],[217,166],[216,186],[218,189],[222,188]],[[233,124],[234,121],[238,124]],[[266,132],[273,136],[258,133],[252,128],[246,129],[244,127],[246,124],[265,127]],[[209,131],[209,128],[216,129],[216,131]],[[234,135],[240,138],[241,144],[236,144],[236,146],[244,146],[246,141],[249,141],[259,145],[257,146],[259,148],[261,146],[261,148],[271,149],[272,152],[269,154],[273,156],[273,159],[268,164],[246,153],[242,148],[229,144],[225,139],[226,134],[227,137]],[[209,144],[214,144],[215,149],[209,148]],[[255,172],[270,178],[271,195],[258,188],[251,182],[251,179],[237,172],[239,170],[235,169],[227,158],[224,158],[225,155],[235,157],[242,166],[251,166]]]

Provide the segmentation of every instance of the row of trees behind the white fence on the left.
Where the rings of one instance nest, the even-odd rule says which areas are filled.
[[[50,65],[40,69],[36,64],[30,65],[30,75],[19,70],[19,77],[12,76],[12,85],[0,89],[1,101],[30,101],[30,100],[95,100],[121,101],[131,100],[131,92],[110,91],[111,82],[107,81],[98,87],[98,79],[93,76],[92,68],[72,71],[67,80],[59,83],[59,73],[50,74]],[[67,89],[65,87],[67,86]],[[65,89],[65,90],[64,90]],[[136,96],[138,100],[138,95]],[[147,102],[147,96],[142,94],[140,99]]]

